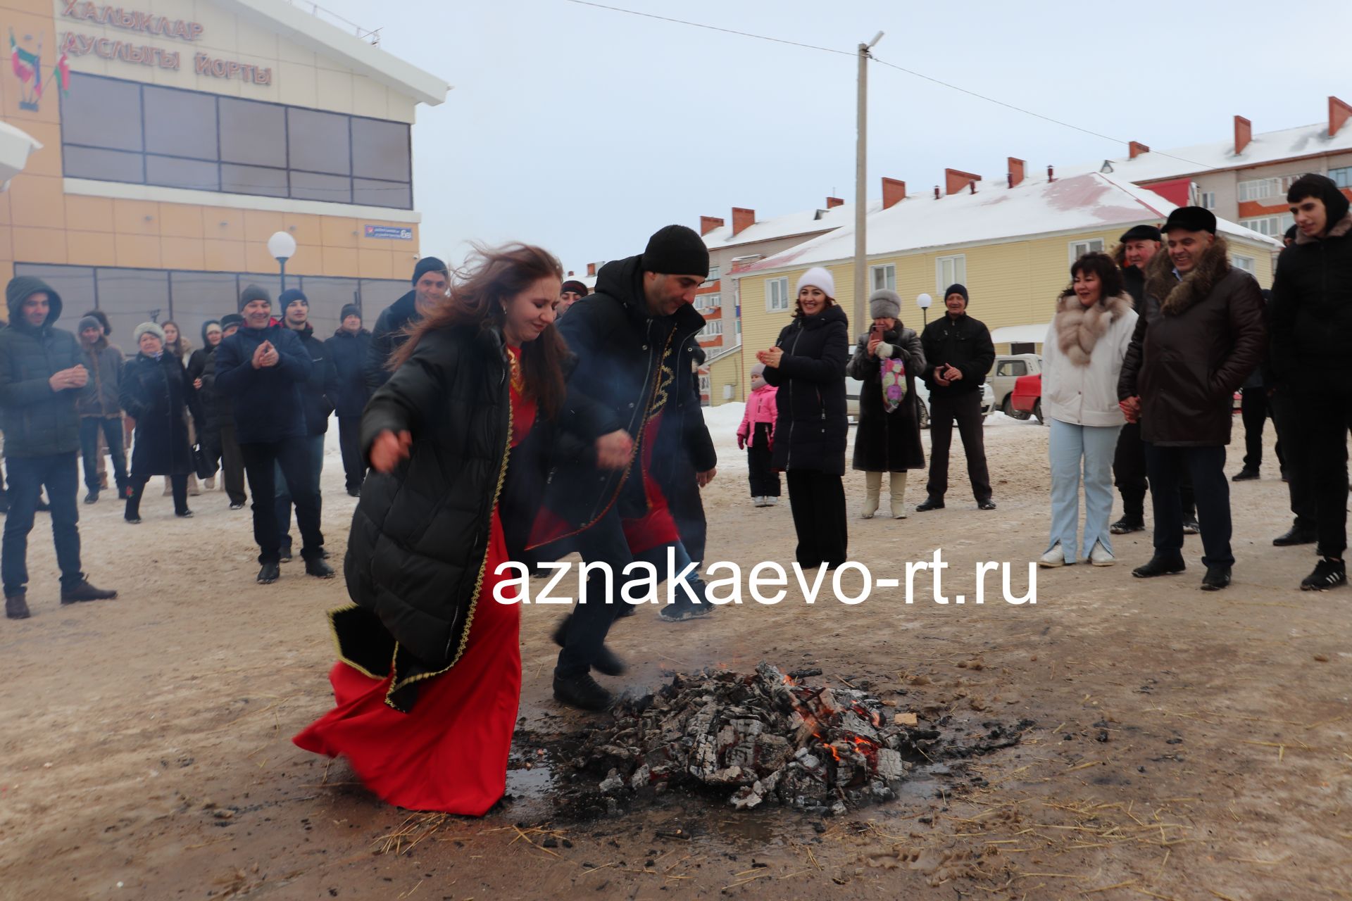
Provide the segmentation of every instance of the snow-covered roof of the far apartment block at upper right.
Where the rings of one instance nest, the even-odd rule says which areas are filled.
[[[1282,159],[1345,151],[1352,151],[1352,128],[1338,128],[1338,134],[1329,138],[1329,123],[1324,122],[1315,126],[1301,126],[1298,128],[1256,134],[1244,149],[1244,153],[1240,154],[1234,153],[1233,139],[1214,140],[1191,147],[1174,147],[1163,151],[1151,150],[1140,154],[1136,159],[1105,159],[1098,163],[1071,166],[1063,172],[1067,176],[1087,172],[1110,172],[1114,176],[1141,182],[1159,181],[1161,178],[1182,178],[1183,176],[1197,176],[1217,169],[1263,166]]]

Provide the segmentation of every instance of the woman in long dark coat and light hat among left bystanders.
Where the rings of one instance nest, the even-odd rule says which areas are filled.
[[[141,353],[122,371],[120,403],[137,420],[131,447],[128,523],[141,521],[141,496],[151,475],[168,475],[173,486],[174,516],[188,517],[188,473],[192,471],[192,444],[188,443],[188,420],[201,420],[197,393],[188,380],[183,362],[165,350],[164,330],[155,323],[141,323],[134,332]]]

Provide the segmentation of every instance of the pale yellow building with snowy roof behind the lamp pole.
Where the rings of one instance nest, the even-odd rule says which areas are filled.
[[[1111,250],[1124,231],[1161,224],[1171,209],[1159,195],[1101,173],[894,199],[868,216],[868,290],[900,294],[903,323],[919,331],[929,316],[942,315],[944,289],[961,282],[971,293],[971,315],[991,328],[996,351],[1009,353],[1011,340],[1041,342],[1076,257]],[[1280,243],[1229,222],[1220,228],[1234,263],[1271,285]],[[848,226],[725,274],[735,280],[741,307],[744,385],[754,351],[773,346],[790,323],[794,288],[807,269],[830,270],[837,303],[853,311],[853,255],[854,228]],[[919,294],[933,297],[927,313],[917,305]],[[998,330],[1009,335],[1003,342]],[[850,323],[852,335],[863,331]],[[722,403],[718,393],[714,404]]]

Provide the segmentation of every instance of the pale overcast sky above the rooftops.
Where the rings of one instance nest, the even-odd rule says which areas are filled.
[[[1002,180],[1006,157],[1045,172],[1132,139],[1228,139],[1236,113],[1272,131],[1326,120],[1329,95],[1352,101],[1347,0],[606,1],[850,53],[882,30],[879,59],[1113,138],[872,65],[871,197],[883,176],[926,192],[946,166]],[[320,5],[454,85],[414,127],[425,254],[519,239],[581,272],[668,223],[853,200],[853,55],[568,0]]]

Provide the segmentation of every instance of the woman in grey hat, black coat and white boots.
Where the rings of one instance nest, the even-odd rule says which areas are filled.
[[[860,336],[845,369],[850,378],[864,382],[859,390],[859,428],[854,431],[854,469],[864,473],[861,516],[873,519],[877,512],[883,473],[887,473],[892,516],[906,519],[906,470],[925,469],[915,396],[915,374],[925,371],[925,350],[915,330],[902,326],[902,299],[896,292],[875,290],[868,305],[873,327]],[[895,371],[886,371],[884,361],[900,361],[904,380],[898,380]]]

